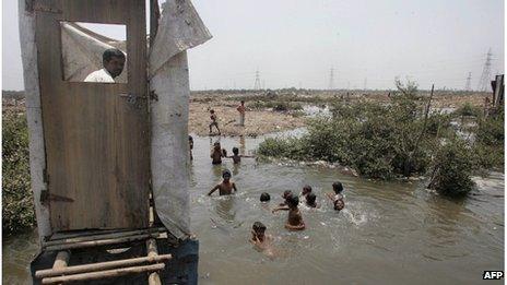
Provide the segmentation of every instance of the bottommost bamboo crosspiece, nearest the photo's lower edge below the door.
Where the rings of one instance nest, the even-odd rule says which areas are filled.
[[[156,263],[152,265],[131,266],[131,268],[125,268],[125,269],[87,272],[87,273],[73,274],[73,275],[67,275],[67,276],[47,277],[47,278],[43,278],[43,284],[111,278],[111,277],[119,277],[119,276],[123,276],[128,274],[158,271],[158,270],[163,270],[164,268],[165,268],[164,263]]]

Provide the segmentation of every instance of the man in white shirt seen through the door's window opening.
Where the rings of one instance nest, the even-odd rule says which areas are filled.
[[[90,73],[84,82],[98,83],[116,83],[115,78],[118,78],[123,71],[125,54],[117,48],[109,48],[102,55],[103,69]]]

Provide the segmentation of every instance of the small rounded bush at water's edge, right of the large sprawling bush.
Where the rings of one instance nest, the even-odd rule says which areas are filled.
[[[449,197],[462,197],[473,189],[473,157],[464,141],[455,139],[446,143],[434,162],[431,189]]]

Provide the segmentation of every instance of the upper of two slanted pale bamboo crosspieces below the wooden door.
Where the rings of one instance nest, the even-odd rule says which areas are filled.
[[[133,258],[133,259],[106,261],[106,262],[98,262],[98,263],[91,263],[91,264],[83,264],[83,265],[75,265],[75,266],[64,266],[64,268],[52,266],[52,269],[50,270],[39,270],[35,272],[35,277],[45,278],[45,277],[52,277],[52,276],[58,276],[58,275],[70,275],[70,274],[78,274],[78,273],[103,271],[103,270],[117,269],[120,266],[139,265],[141,263],[146,263],[146,262],[149,263],[156,263],[161,261],[163,262],[169,259],[170,259],[170,254],[163,254],[163,256],[155,256],[155,257],[142,257],[142,258]]]

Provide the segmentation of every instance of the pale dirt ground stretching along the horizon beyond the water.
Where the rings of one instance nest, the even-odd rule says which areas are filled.
[[[387,91],[305,91],[305,90],[287,90],[273,91],[274,96],[288,96],[291,102],[300,102],[304,104],[326,105],[340,98],[349,98],[355,100],[370,102],[389,102]],[[420,94],[428,95],[429,92],[421,91]],[[256,100],[263,100],[267,95],[266,91],[241,93],[238,91],[215,91],[215,92],[192,92],[190,98],[189,112],[189,132],[199,135],[209,134],[210,109],[214,109],[219,117],[219,127],[222,135],[246,135],[257,136],[260,134],[296,129],[305,126],[305,118],[302,116],[293,116],[291,112],[272,111],[262,109],[249,109],[248,106]],[[433,107],[437,108],[458,108],[465,103],[474,106],[484,106],[484,98],[492,97],[492,93],[475,93],[475,92],[435,92],[433,97]],[[246,100],[246,119],[245,127],[237,126],[239,120],[236,107],[239,99]],[[317,100],[313,103],[314,98]],[[14,109],[20,112],[24,111],[24,98],[13,99],[3,98],[3,108]],[[216,132],[215,130],[213,130]]]

